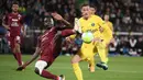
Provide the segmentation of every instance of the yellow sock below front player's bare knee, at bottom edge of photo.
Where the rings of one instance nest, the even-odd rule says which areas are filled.
[[[77,80],[84,80],[81,69],[80,69],[79,65],[78,64],[73,64],[73,68],[74,68]]]

